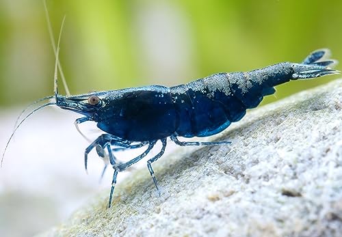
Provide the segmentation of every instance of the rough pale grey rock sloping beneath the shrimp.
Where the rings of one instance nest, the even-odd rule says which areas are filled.
[[[341,236],[342,80],[274,104],[216,140],[133,171],[42,236]]]

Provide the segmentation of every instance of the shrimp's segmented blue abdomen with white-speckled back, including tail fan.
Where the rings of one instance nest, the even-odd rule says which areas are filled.
[[[170,88],[179,115],[176,135],[207,137],[241,120],[246,109],[257,107],[274,86],[290,80],[311,79],[338,71],[337,61],[324,59],[327,50],[311,53],[301,64],[284,62],[249,72],[218,73]]]

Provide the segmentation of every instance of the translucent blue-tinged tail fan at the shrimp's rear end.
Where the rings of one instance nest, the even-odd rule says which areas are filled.
[[[295,73],[292,79],[309,79],[329,74],[339,74],[338,70],[332,69],[339,61],[330,59],[330,50],[328,48],[318,49],[313,51],[304,59],[302,64],[294,64],[293,70]]]

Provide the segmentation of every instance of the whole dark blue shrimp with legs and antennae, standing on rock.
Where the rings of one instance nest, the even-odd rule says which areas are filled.
[[[150,85],[62,96],[57,90],[59,46],[57,49],[54,47],[54,51],[55,93],[54,96],[37,102],[46,99],[54,99],[54,101],[31,111],[18,123],[12,136],[27,117],[49,105],[57,105],[61,109],[83,115],[75,121],[77,130],[79,130],[78,124],[96,122],[97,127],[104,133],[86,148],[84,162],[87,170],[88,154],[94,148],[98,156],[109,158],[109,163],[114,169],[109,208],[118,173],[144,158],[157,141],[161,141],[162,148],[157,155],[147,161],[147,167],[160,195],[152,164],[163,155],[167,138],[181,146],[231,143],[230,141],[179,141],[179,137],[209,137],[220,133],[232,122],[241,120],[246,114],[246,109],[257,107],[264,96],[274,94],[276,85],[291,80],[313,79],[339,73],[330,68],[337,64],[337,61],[328,59],[328,49],[319,49],[308,55],[300,64],[283,62],[250,72],[221,72],[174,87]],[[117,150],[145,146],[147,148],[140,156],[125,163],[118,162],[113,154]]]

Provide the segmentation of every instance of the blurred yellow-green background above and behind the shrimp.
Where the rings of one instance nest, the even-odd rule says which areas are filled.
[[[55,38],[66,14],[60,61],[72,94],[187,83],[302,61],[323,47],[342,58],[341,0],[47,0],[47,7]],[[42,1],[1,0],[0,33],[0,106],[51,95],[54,55]],[[265,102],[337,77],[287,83]]]

